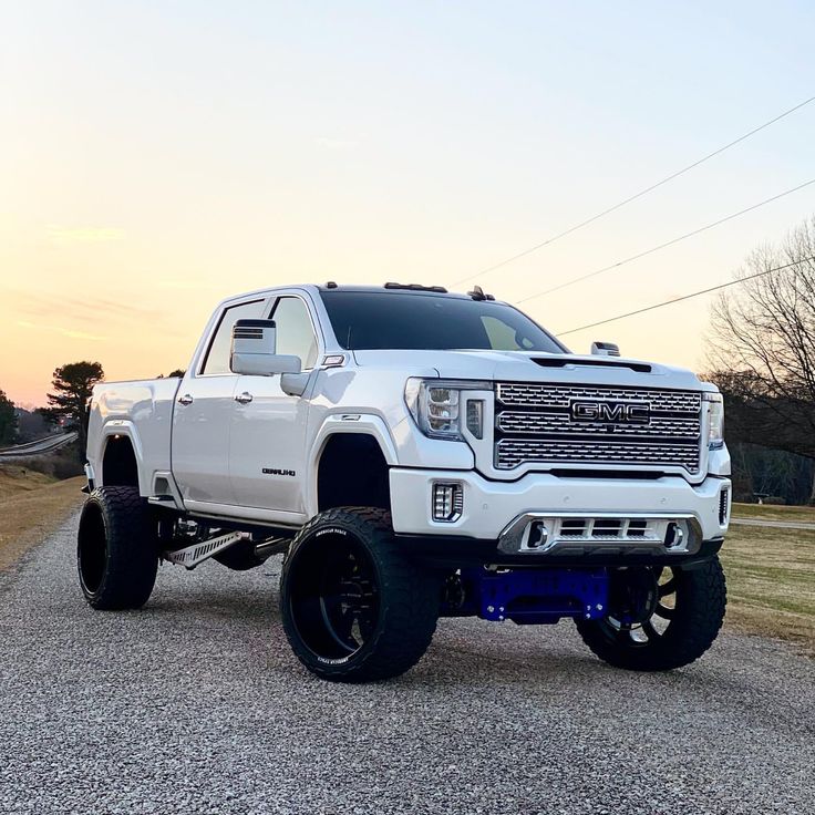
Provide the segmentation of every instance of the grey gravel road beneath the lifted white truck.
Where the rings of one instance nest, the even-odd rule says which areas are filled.
[[[639,675],[569,623],[442,620],[409,674],[338,687],[289,652],[279,559],[94,612],[74,529],[0,575],[2,813],[815,813],[815,662],[786,646]]]

